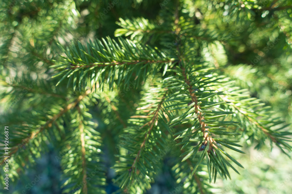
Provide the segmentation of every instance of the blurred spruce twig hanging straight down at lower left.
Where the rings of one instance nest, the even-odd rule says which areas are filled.
[[[72,110],[70,130],[62,145],[61,165],[64,178],[63,192],[106,193],[105,174],[102,165],[100,133],[92,122],[92,115],[87,111],[86,102],[80,101]],[[81,108],[82,107],[82,108]],[[69,148],[68,148],[69,147]]]

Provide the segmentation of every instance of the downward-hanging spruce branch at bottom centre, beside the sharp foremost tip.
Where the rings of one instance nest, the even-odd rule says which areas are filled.
[[[116,182],[119,181],[124,192],[150,188],[153,176],[161,166],[159,152],[167,145],[166,134],[161,133],[165,119],[162,104],[167,90],[148,84],[143,86],[147,92],[136,108],[136,115],[128,120],[128,127],[124,129],[122,136],[126,144],[120,149],[120,161],[113,167],[122,173]]]

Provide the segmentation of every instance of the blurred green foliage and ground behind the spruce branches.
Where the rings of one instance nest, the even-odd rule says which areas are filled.
[[[218,72],[234,78],[242,88],[248,88],[253,97],[258,97],[272,106],[287,122],[292,122],[291,0],[181,0],[180,3],[166,0],[117,0],[114,7],[106,10],[109,3],[113,2],[0,0],[0,113],[5,115],[1,116],[2,125],[17,124],[20,122],[17,118],[24,118],[25,111],[28,110],[35,111],[35,115],[39,114],[38,111],[50,111],[46,109],[46,104],[62,104],[68,100],[60,96],[76,95],[70,90],[62,90],[63,86],[55,87],[58,80],[50,79],[53,74],[50,65],[54,64],[51,59],[58,58],[57,54],[62,53],[57,44],[66,47],[71,42],[77,44],[77,41],[80,41],[85,44],[89,40],[106,36],[114,38],[115,35],[131,38],[133,32],[129,31],[132,26],[133,29],[141,28],[141,32],[148,32],[141,33],[141,37],[136,33],[134,39],[139,41],[146,35],[149,39],[147,44],[167,52],[168,46],[173,46],[173,43],[167,43],[166,40],[166,44],[159,45],[157,40],[165,38],[164,31],[155,30],[156,26],[164,26],[165,31],[173,31],[169,25],[172,17],[170,13],[176,6],[197,24],[196,31],[191,33],[192,37],[201,42],[203,49],[200,52],[205,60],[211,61]],[[142,22],[144,25],[140,25]],[[117,30],[121,27],[128,30]],[[8,84],[11,86],[10,91],[2,87]],[[32,87],[29,87],[30,85]],[[35,98],[23,98],[22,93],[26,89],[34,93]],[[12,90],[13,95],[10,93]],[[125,103],[120,106],[127,106],[128,110],[134,112],[138,99],[133,96],[137,97],[139,92],[139,89],[133,88],[125,92],[124,98],[121,99]],[[104,99],[101,104],[111,106],[107,100],[107,95],[111,93],[106,93],[99,94],[103,95]],[[39,94],[53,99],[41,98],[42,95]],[[100,136],[104,138],[102,157],[106,167],[106,191],[112,193],[118,189],[112,183],[116,174],[110,168],[114,164],[114,156],[111,153],[115,152],[113,144],[117,143],[117,139],[107,135],[113,132],[105,126],[114,122],[106,119],[110,118],[106,114],[113,113],[95,106],[91,114],[99,123]],[[128,115],[131,113],[125,113],[121,118],[126,120]],[[40,124],[34,118],[27,120],[31,121],[32,125]],[[116,130],[121,127],[123,126],[117,124]],[[10,182],[9,191],[1,192],[21,193],[24,190],[27,193],[61,193],[63,183],[59,181],[60,161],[55,159],[60,150],[53,141],[54,138],[51,138],[51,146],[44,150],[40,159],[35,160],[36,165],[23,165],[25,176],[21,177],[24,178]],[[241,171],[241,175],[232,172],[232,180],[218,180],[213,186],[223,186],[223,189],[217,192],[291,192],[291,161],[284,154],[280,154],[277,147],[273,148],[272,152],[269,148],[258,151],[253,150],[254,145],[250,142],[247,144],[251,146],[243,149],[247,154],[238,154],[237,158],[245,169]],[[175,178],[170,173],[171,156],[166,157],[164,163],[161,174],[156,177],[156,182],[147,193],[174,193],[175,188],[181,189],[175,184]],[[28,190],[25,186],[36,175],[44,178]],[[180,193],[180,190],[177,192]]]

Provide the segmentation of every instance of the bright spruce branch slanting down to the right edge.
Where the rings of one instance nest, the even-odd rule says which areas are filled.
[[[230,102],[230,106],[234,108],[234,111],[237,111],[242,115],[241,117],[239,114],[239,119],[244,121],[242,123],[242,126],[245,128],[245,133],[247,130],[247,126],[251,125],[251,128],[258,128],[260,131],[262,131],[265,136],[259,136],[256,135],[256,131],[253,129],[253,135],[257,136],[259,138],[258,145],[256,147],[260,147],[264,144],[265,138],[268,137],[271,142],[275,143],[277,147],[281,149],[281,151],[286,154],[288,157],[290,157],[283,148],[291,151],[292,146],[289,145],[286,142],[289,142],[291,140],[291,131],[287,131],[287,126],[289,124],[285,124],[284,120],[282,118],[276,117],[274,115],[274,112],[270,111],[268,106],[265,106],[264,103],[258,103],[259,100],[256,98],[251,98],[249,92],[246,90],[238,91],[238,88],[234,87],[232,88],[232,83],[226,85],[229,90],[226,90],[228,92],[227,95],[222,95],[219,98],[222,100],[225,100],[227,102]],[[225,86],[225,87],[226,87]],[[216,86],[211,86],[211,89],[220,91],[224,89],[225,87],[218,88]],[[245,99],[242,99],[245,97]],[[249,123],[248,125],[246,124]]]

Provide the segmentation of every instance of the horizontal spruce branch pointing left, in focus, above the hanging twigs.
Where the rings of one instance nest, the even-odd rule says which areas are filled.
[[[115,40],[107,37],[107,40],[96,40],[87,43],[84,47],[80,43],[71,46],[67,51],[63,49],[65,56],[64,62],[51,67],[62,70],[52,78],[62,75],[58,84],[65,78],[69,82],[73,78],[73,89],[90,86],[99,83],[100,87],[109,84],[109,89],[113,88],[114,83],[124,86],[129,83],[134,74],[138,83],[147,79],[150,72],[159,71],[164,65],[165,70],[170,67],[173,59],[166,57],[161,51],[152,49],[150,46],[143,46],[130,40]],[[62,47],[61,47],[62,48]],[[77,79],[78,77],[78,79]],[[68,82],[68,83],[69,83]]]

